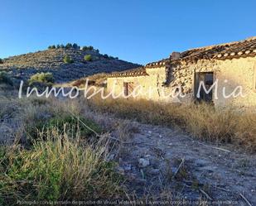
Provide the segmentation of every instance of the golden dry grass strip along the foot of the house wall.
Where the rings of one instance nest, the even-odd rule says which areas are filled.
[[[232,108],[215,110],[208,104],[160,104],[146,100],[94,98],[89,107],[101,113],[179,127],[205,141],[230,142],[256,151],[256,114],[237,113]]]

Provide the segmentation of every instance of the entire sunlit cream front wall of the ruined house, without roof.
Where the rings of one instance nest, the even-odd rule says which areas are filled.
[[[114,88],[114,93],[123,92],[124,82],[133,82],[133,86],[141,86],[141,93],[137,98],[152,99],[163,102],[191,103],[194,101],[195,72],[214,72],[214,81],[218,79],[217,88],[213,89],[213,101],[216,107],[234,106],[256,108],[256,57],[239,58],[233,60],[197,60],[186,62],[178,60],[171,65],[156,68],[146,68],[148,75],[137,77],[115,77],[108,79],[108,91]],[[225,98],[240,86],[244,98]],[[176,87],[181,88],[185,98],[171,98]],[[236,93],[239,91],[237,90]],[[217,95],[217,96],[216,96]],[[215,98],[217,97],[217,98]]]

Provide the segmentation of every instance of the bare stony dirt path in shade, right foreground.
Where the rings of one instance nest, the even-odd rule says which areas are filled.
[[[118,161],[134,196],[256,205],[255,155],[198,141],[178,129],[105,116],[102,121],[120,140],[111,158]]]

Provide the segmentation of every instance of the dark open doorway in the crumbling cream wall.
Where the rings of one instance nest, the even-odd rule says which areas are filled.
[[[200,82],[205,84],[205,89],[209,90],[214,82],[214,73],[213,72],[196,72],[195,73],[195,91],[194,96],[197,101],[201,102],[212,102],[212,89],[210,93],[206,93],[204,87],[201,85]],[[197,97],[197,93],[200,89],[200,97]]]

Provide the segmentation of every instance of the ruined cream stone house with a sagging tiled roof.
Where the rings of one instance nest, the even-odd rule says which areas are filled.
[[[256,37],[173,52],[138,69],[109,74],[107,89],[128,98],[256,107]]]

